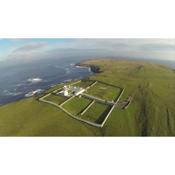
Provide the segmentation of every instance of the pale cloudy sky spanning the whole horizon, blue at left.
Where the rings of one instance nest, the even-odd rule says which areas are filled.
[[[0,61],[62,57],[175,60],[175,39],[0,39]]]

